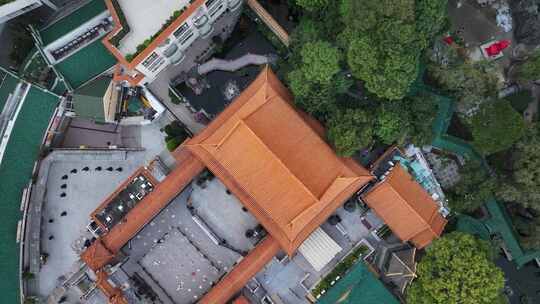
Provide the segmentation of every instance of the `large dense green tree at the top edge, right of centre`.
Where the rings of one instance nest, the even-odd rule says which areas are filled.
[[[445,24],[446,0],[343,0],[338,43],[352,74],[373,94],[401,99],[418,77],[420,54]]]

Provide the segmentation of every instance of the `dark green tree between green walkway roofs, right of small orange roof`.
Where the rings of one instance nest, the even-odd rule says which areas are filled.
[[[467,160],[459,175],[459,182],[448,191],[452,211],[473,212],[493,196],[497,181],[488,175],[479,161]]]

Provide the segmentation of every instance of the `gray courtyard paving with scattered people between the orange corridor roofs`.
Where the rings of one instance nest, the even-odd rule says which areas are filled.
[[[216,245],[193,220],[187,209],[191,193],[187,187],[122,248],[129,257],[122,269],[129,275],[145,272],[145,281],[153,277],[150,285],[159,286],[154,291],[165,303],[195,302],[194,296],[207,292],[241,258]]]

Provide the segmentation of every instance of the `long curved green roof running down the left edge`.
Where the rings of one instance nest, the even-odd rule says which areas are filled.
[[[58,98],[37,88],[26,96],[0,164],[0,293],[2,303],[19,303],[19,247],[15,243],[22,189],[32,175],[45,129]]]

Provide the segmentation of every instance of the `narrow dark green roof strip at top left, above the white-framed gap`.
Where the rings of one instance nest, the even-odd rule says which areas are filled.
[[[43,44],[48,45],[49,43],[54,42],[106,10],[107,6],[103,0],[92,0],[88,2],[73,13],[55,21],[41,30],[40,34]]]

